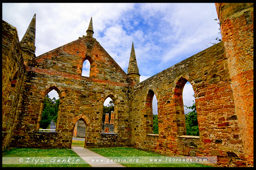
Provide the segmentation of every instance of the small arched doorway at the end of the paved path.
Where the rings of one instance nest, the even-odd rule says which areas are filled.
[[[84,123],[83,119],[80,118],[77,120],[72,138],[72,147],[84,147],[86,140],[86,123]]]

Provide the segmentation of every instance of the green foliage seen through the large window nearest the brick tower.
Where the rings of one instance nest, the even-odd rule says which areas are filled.
[[[185,114],[187,135],[199,136],[196,103],[194,102],[192,106],[185,107],[192,109],[192,111],[188,112],[188,114]]]

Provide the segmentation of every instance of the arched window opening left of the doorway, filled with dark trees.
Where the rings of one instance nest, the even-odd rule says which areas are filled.
[[[51,132],[54,132],[56,130],[58,109],[59,95],[57,91],[53,89],[48,94],[46,94],[44,107],[42,109],[39,130]]]

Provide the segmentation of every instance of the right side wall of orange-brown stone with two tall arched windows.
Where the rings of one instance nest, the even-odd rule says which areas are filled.
[[[185,132],[182,90],[187,81],[195,91],[197,137]],[[159,135],[147,134],[152,122],[145,103],[151,90],[158,101]],[[172,156],[218,156],[223,166],[246,164],[222,42],[136,84],[132,120],[137,148]]]

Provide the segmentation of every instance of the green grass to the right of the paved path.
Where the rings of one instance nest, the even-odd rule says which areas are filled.
[[[146,152],[142,150],[138,150],[135,148],[126,148],[126,147],[116,147],[116,148],[92,148],[91,151],[94,151],[104,157],[112,159],[112,157],[157,157],[157,158],[166,158],[163,155],[153,153],[153,152]],[[164,160],[164,159],[163,159]],[[139,160],[140,161],[140,160]],[[135,163],[124,163],[124,162],[117,162],[126,167],[211,167],[204,164],[198,163],[163,163],[156,161],[154,163],[140,163],[139,161],[134,161]]]

